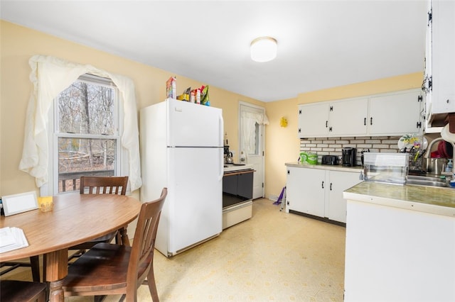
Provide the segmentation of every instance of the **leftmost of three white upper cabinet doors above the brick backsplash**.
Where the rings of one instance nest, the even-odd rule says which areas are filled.
[[[299,138],[326,137],[328,103],[299,105]]]

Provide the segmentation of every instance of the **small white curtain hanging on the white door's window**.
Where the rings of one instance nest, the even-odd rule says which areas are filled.
[[[256,150],[256,123],[259,125],[269,125],[269,119],[264,114],[242,111],[242,135],[243,135],[243,155],[247,160],[248,155]]]

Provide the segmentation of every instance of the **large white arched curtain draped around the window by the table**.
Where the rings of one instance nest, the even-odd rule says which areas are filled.
[[[120,91],[124,104],[122,147],[128,151],[131,190],[139,189],[141,163],[139,157],[139,129],[134,82],[128,77],[112,74],[91,65],[66,62],[56,57],[35,55],[28,61],[33,91],[28,101],[22,159],[19,169],[35,177],[38,187],[48,182],[48,113],[55,97],[82,74],[108,77]]]

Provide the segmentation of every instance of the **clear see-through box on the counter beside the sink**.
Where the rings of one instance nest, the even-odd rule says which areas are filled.
[[[363,154],[364,180],[405,184],[409,156],[409,153],[365,152]]]

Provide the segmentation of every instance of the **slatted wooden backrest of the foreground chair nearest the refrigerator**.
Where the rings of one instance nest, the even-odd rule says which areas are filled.
[[[161,209],[168,194],[168,189],[161,191],[161,196],[155,201],[142,203],[136,231],[134,232],[133,247],[128,264],[127,297],[133,297],[137,288],[142,284],[150,269],[153,269],[153,257]]]

